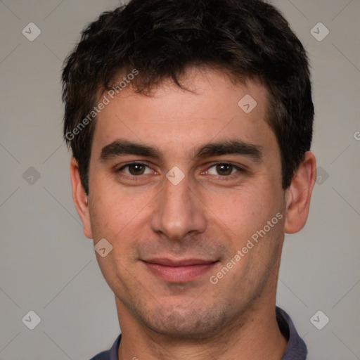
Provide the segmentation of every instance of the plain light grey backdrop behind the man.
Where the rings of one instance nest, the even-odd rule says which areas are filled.
[[[89,359],[120,331],[113,293],[72,204],[59,82],[84,25],[118,4],[0,0],[1,360]],[[277,303],[309,359],[360,359],[360,1],[274,4],[310,53],[312,150],[322,168],[307,226],[285,240]],[[22,34],[30,22],[41,30],[34,41]],[[330,31],[322,41],[310,32],[319,22]],[[34,330],[22,322],[30,310],[41,318]],[[330,319],[322,330],[310,321],[319,310]],[[315,319],[319,326],[325,317]]]

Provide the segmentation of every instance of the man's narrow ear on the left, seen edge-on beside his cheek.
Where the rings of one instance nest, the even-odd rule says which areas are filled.
[[[77,164],[77,160],[75,160],[75,158],[72,158],[70,161],[70,178],[72,186],[72,200],[74,200],[77,213],[82,220],[84,235],[86,238],[91,239],[93,236],[91,232],[89,204],[87,195],[80,180],[79,165]]]

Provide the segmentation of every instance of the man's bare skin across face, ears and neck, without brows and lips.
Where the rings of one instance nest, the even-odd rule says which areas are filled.
[[[211,69],[189,69],[183,80],[192,91],[163,82],[152,96],[144,96],[128,87],[101,111],[91,148],[89,196],[76,160],[71,161],[84,234],[94,244],[105,238],[113,245],[106,257],[96,256],[115,293],[122,329],[119,359],[281,359],[286,340],[275,318],[281,248],[284,233],[300,231],[307,220],[314,155],[305,154],[283,191],[278,144],[265,122],[264,86],[250,80],[234,85]],[[248,114],[238,106],[246,94],[257,101]],[[105,146],[122,139],[152,146],[161,157],[101,159]],[[257,146],[262,158],[194,158],[204,144],[226,140]],[[130,168],[123,168],[128,162],[145,164],[143,174],[131,176]],[[245,171],[230,167],[224,175],[217,172],[219,163]],[[173,167],[185,176],[177,185],[166,177]],[[211,283],[210,276],[276,214],[282,219]],[[189,281],[166,281],[149,270],[145,261],[154,257],[214,264]]]

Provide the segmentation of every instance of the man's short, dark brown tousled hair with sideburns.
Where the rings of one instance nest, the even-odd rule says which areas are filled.
[[[134,69],[136,92],[165,79],[181,86],[179,78],[193,65],[240,81],[256,77],[266,86],[266,121],[281,151],[282,186],[290,185],[311,146],[314,105],[307,53],[281,13],[262,0],[131,0],[89,24],[65,60],[64,137],[86,193],[94,122],[69,134],[84,124],[99,91]]]

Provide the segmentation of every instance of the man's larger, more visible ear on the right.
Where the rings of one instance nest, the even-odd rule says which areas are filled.
[[[285,233],[297,233],[307,222],[315,180],[316,159],[314,154],[308,151],[285,191]]]

